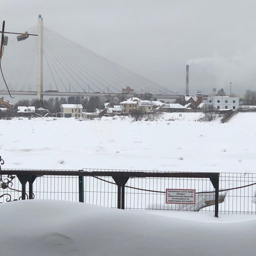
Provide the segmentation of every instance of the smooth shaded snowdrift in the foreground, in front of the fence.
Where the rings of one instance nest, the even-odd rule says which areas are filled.
[[[1,204],[3,256],[254,256],[256,216],[124,211],[67,201]]]

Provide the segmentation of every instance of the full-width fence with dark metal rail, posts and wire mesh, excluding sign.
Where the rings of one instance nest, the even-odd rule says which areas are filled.
[[[166,204],[166,189],[195,189],[195,204]],[[256,214],[256,174],[0,169],[0,202],[29,198],[121,209],[201,210],[215,216]]]

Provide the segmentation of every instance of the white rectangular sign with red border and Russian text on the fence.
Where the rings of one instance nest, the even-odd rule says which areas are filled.
[[[195,189],[166,189],[166,204],[195,204]]]

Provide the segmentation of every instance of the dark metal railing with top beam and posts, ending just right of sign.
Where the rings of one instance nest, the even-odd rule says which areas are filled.
[[[158,189],[165,191],[166,188],[173,188],[174,181],[176,185],[179,184],[179,189],[194,188],[200,183],[203,187],[206,183],[213,190],[207,197],[211,198],[211,204],[215,205],[215,216],[218,216],[218,203],[214,203],[218,202],[219,197],[218,173],[3,169],[2,180],[4,175],[16,175],[21,183],[21,189],[17,183],[14,187],[6,188],[10,198],[15,192],[20,192],[20,199],[80,201],[119,209],[174,209],[165,204],[165,192]],[[193,207],[189,206],[179,205],[175,209],[203,208],[200,200]]]

